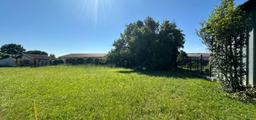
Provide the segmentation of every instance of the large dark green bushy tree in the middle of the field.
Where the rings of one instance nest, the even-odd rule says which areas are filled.
[[[162,25],[152,17],[126,25],[120,38],[109,51],[108,63],[130,68],[176,68],[179,49],[185,43],[185,35],[175,22],[163,21]]]

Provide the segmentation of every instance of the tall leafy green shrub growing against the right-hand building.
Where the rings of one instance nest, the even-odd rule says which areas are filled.
[[[246,45],[248,19],[234,0],[222,0],[209,16],[202,21],[197,31],[202,43],[210,52],[210,62],[214,66],[215,77],[223,88],[230,92],[244,89],[246,71],[242,49]]]

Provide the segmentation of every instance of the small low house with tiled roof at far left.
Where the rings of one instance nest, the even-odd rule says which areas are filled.
[[[48,65],[50,63],[50,60],[53,60],[53,58],[46,55],[22,54],[21,60],[24,66],[32,66],[34,65],[34,60],[36,60],[36,64]]]

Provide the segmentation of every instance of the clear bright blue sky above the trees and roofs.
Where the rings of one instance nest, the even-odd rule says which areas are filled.
[[[206,52],[195,29],[216,4],[220,0],[0,0],[0,45],[56,56],[107,53],[125,24],[152,16],[177,23],[186,35],[184,51]]]

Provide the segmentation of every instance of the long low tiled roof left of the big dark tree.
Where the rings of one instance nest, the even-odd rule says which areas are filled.
[[[105,57],[107,53],[71,53],[61,57]]]

